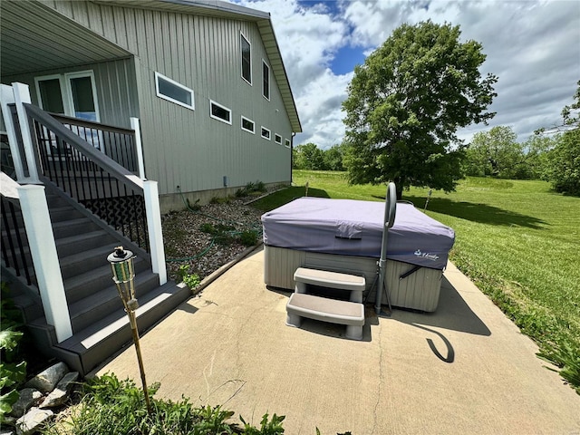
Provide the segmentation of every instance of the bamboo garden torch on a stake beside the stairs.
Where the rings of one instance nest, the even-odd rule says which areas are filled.
[[[115,247],[115,251],[107,256],[107,260],[111,263],[112,280],[115,282],[115,285],[117,285],[117,291],[119,292],[119,296],[121,297],[121,301],[125,307],[125,312],[129,316],[131,332],[133,333],[133,343],[135,343],[135,352],[137,353],[137,361],[139,362],[141,382],[143,383],[145,403],[147,404],[147,411],[151,414],[149,391],[147,390],[145,369],[143,368],[143,358],[141,357],[139,330],[137,329],[137,319],[135,317],[135,310],[139,308],[139,303],[137,302],[137,298],[135,298],[134,258],[135,256],[133,256],[133,253],[131,251],[125,251],[123,247]]]

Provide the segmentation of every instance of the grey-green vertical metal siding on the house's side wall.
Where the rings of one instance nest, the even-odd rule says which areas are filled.
[[[167,11],[50,2],[55,9],[135,54],[146,174],[160,181],[160,194],[219,189],[249,181],[291,179],[292,127],[274,75],[270,101],[262,96],[262,59],[269,63],[255,23]],[[252,47],[252,82],[241,78],[239,35]],[[194,91],[195,111],[155,94],[159,72]],[[232,125],[209,117],[209,99],[232,111]],[[277,110],[277,111],[276,111]],[[256,123],[256,134],[242,131],[240,117]],[[260,136],[265,126],[271,140]],[[275,144],[280,134],[282,145]]]

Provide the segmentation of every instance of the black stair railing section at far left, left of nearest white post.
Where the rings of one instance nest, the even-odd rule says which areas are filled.
[[[24,221],[17,198],[0,198],[2,207],[2,260],[6,267],[14,269],[16,276],[23,276],[27,285],[36,285],[36,278],[30,274],[32,260],[29,254],[28,238],[24,231]]]

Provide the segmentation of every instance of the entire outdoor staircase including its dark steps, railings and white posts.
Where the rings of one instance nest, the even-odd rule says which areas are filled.
[[[38,351],[84,375],[132,339],[107,261],[115,247],[136,255],[134,284],[140,307],[135,314],[140,333],[187,300],[190,291],[166,282],[157,184],[143,180],[141,170],[140,176],[136,174],[142,168],[142,161],[137,161],[138,132],[53,117],[25,103],[30,95],[16,98],[21,87],[13,86],[13,92],[14,102],[3,106],[2,114],[8,130],[14,132],[8,137],[15,178],[31,186],[21,189],[1,174],[2,281],[9,283]],[[5,96],[9,97],[3,92]],[[16,101],[21,110],[15,109]],[[24,129],[27,126],[30,130]],[[39,183],[44,186],[48,216],[40,207],[44,199],[42,193],[38,195],[40,189],[32,186]],[[23,199],[26,209],[38,210],[28,212],[27,223],[33,228],[28,235]],[[52,247],[43,245],[50,241],[43,233],[49,225],[57,258]],[[35,279],[31,247],[42,266],[39,274],[50,278]],[[61,276],[53,273],[57,261],[62,286]],[[63,318],[64,300],[71,328]]]

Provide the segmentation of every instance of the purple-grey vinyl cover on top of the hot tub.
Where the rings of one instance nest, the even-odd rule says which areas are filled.
[[[381,256],[384,202],[298,198],[262,215],[264,243],[343,256]],[[387,258],[442,270],[455,233],[411,204],[397,203]]]

